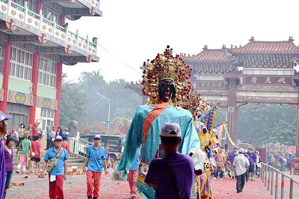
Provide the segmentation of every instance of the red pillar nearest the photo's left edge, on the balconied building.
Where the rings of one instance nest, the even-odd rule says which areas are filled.
[[[9,78],[9,62],[11,54],[11,42],[8,41],[5,44],[5,55],[4,55],[4,64],[3,64],[3,101],[0,102],[0,110],[5,114],[7,106],[7,92],[8,92],[8,78]]]

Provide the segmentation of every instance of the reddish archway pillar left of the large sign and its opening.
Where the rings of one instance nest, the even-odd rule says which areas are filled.
[[[227,129],[234,142],[238,138],[238,119],[239,108],[236,107],[237,101],[237,80],[228,79],[228,102],[227,102]]]

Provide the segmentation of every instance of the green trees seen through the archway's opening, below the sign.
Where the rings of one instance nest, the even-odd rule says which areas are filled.
[[[289,105],[249,103],[240,107],[239,139],[261,146],[296,144],[297,109]]]

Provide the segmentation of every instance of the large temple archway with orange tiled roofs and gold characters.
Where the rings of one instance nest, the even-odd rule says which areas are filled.
[[[239,108],[247,103],[276,103],[299,107],[299,48],[288,41],[255,41],[245,46],[208,49],[194,56],[183,56],[193,67],[192,84],[207,102],[227,110],[227,129],[238,139]],[[297,120],[296,156],[299,157]]]

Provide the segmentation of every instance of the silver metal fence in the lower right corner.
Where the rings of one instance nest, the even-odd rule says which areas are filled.
[[[265,164],[262,162],[262,171],[261,171],[261,180],[263,181],[265,187],[267,187],[267,190],[270,190],[270,194],[275,196],[275,199],[279,199],[279,174],[281,175],[281,194],[280,198],[285,199],[285,178],[290,179],[290,193],[289,193],[289,199],[294,199],[293,191],[294,191],[294,183],[299,185],[299,181],[293,178],[290,175],[287,175],[284,172],[281,172],[280,170]],[[275,182],[274,182],[274,175],[275,175]],[[275,187],[274,187],[275,185]]]

